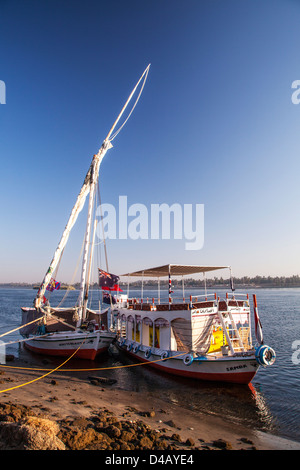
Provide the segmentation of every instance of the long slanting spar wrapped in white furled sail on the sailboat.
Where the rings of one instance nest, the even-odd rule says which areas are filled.
[[[116,137],[116,135],[120,132],[120,130],[122,129],[122,127],[125,125],[125,123],[127,122],[127,120],[129,119],[133,109],[135,108],[136,104],[137,104],[137,101],[139,100],[139,97],[141,95],[141,92],[143,90],[143,87],[145,85],[145,82],[146,82],[146,79],[147,79],[147,76],[148,76],[148,72],[149,72],[149,68],[150,68],[150,64],[146,67],[146,69],[144,70],[143,74],[141,75],[140,79],[138,80],[137,84],[135,85],[135,87],[133,88],[132,92],[130,93],[126,103],[124,104],[123,108],[121,109],[121,112],[119,113],[117,119],[115,120],[113,126],[111,127],[109,133],[107,134],[106,138],[104,139],[98,153],[96,155],[94,155],[93,157],[93,160],[91,162],[91,165],[88,169],[88,172],[86,174],[86,177],[84,179],[84,182],[83,182],[83,185],[81,187],[81,190],[77,196],[77,199],[76,199],[76,202],[73,206],[73,209],[71,211],[71,214],[70,214],[70,217],[69,217],[69,220],[67,222],[67,225],[65,226],[65,229],[64,229],[64,232],[61,236],[61,239],[60,239],[60,242],[56,248],[56,251],[53,255],[53,258],[52,258],[52,261],[50,263],[50,266],[45,274],[45,277],[43,279],[43,282],[38,290],[38,293],[35,297],[35,301],[34,301],[34,306],[35,308],[39,309],[41,308],[42,306],[42,299],[44,297],[44,294],[45,294],[45,291],[46,291],[46,288],[51,280],[51,277],[59,263],[59,260],[61,258],[61,255],[62,255],[62,252],[67,244],[67,241],[69,239],[69,235],[70,235],[70,232],[73,228],[73,226],[75,225],[75,222],[77,220],[77,217],[79,215],[79,213],[81,212],[83,206],[84,206],[84,203],[85,203],[85,200],[86,200],[86,197],[88,195],[88,193],[92,190],[94,191],[94,188],[95,188],[95,185],[97,183],[97,179],[98,179],[98,176],[99,176],[99,169],[100,169],[100,164],[107,152],[107,150],[109,150],[110,148],[112,148],[112,140]],[[116,131],[116,133],[113,135],[113,132],[117,126],[117,124],[119,123],[120,119],[122,118],[126,108],[128,107],[130,101],[132,100],[132,97],[133,95],[135,94],[139,84],[143,81],[143,84],[142,84],[142,89],[137,97],[137,100],[131,110],[131,112],[129,113],[127,119],[125,120],[125,122],[120,126],[120,128]],[[91,199],[91,198],[90,198]],[[91,208],[89,208],[91,209]],[[89,218],[91,216],[91,210],[89,210],[89,215],[88,215],[88,223],[87,223],[87,229],[89,228],[90,226],[90,222],[89,222]],[[85,265],[87,263],[87,256],[88,256],[88,243],[89,243],[89,234],[86,234],[86,244],[85,244],[85,250],[84,250],[84,255],[83,255],[83,272],[85,272]],[[82,281],[82,284],[84,283],[84,281]],[[82,286],[83,287],[83,286]]]

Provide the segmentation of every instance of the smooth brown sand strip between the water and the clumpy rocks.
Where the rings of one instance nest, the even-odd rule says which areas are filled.
[[[39,363],[39,367],[51,369],[51,364]],[[56,371],[35,381],[48,373],[32,370],[37,363],[15,359],[6,366],[0,365],[0,391],[7,390],[0,393],[0,405],[25,405],[58,423],[62,419],[91,419],[105,410],[119,424],[143,422],[164,436],[168,449],[300,450],[300,443],[182,409],[154,397],[150,390],[147,393],[121,390],[117,384],[101,380],[105,377],[103,372]],[[31,381],[34,382],[23,386]],[[155,449],[155,444],[149,448]]]

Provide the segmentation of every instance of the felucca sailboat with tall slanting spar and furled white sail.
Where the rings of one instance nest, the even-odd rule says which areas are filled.
[[[148,65],[140,77],[107,137],[103,141],[101,148],[92,159],[91,165],[84,179],[84,183],[71,211],[69,220],[54,253],[53,259],[36,294],[33,307],[22,308],[22,328],[20,329],[20,333],[25,339],[25,347],[33,352],[51,356],[71,356],[76,353],[77,358],[93,360],[99,353],[108,349],[116,336],[115,328],[113,323],[110,321],[110,308],[103,310],[101,308],[100,301],[99,309],[97,310],[92,309],[88,304],[89,294],[91,292],[90,278],[97,226],[97,222],[95,220],[97,196],[98,203],[101,204],[98,186],[99,169],[106,152],[112,148],[113,139],[129,119],[137,101],[140,98],[149,72],[149,67],[150,65]],[[139,90],[139,92],[137,92],[137,90]],[[125,110],[128,108],[128,105],[135,94],[138,94],[138,96],[131,111],[127,115],[126,119],[124,119]],[[122,124],[121,118],[123,119]],[[118,129],[116,129],[117,125],[119,125]],[[56,281],[58,276],[58,267],[68,242],[70,232],[75,225],[79,213],[84,207],[88,194],[88,215],[84,234],[81,281],[78,300],[71,308],[62,308],[61,306],[54,308],[50,305],[50,294],[52,291],[57,290],[60,285],[60,283]],[[108,271],[107,265],[106,270]],[[102,272],[105,273],[103,270]],[[109,275],[107,272],[106,274]]]

